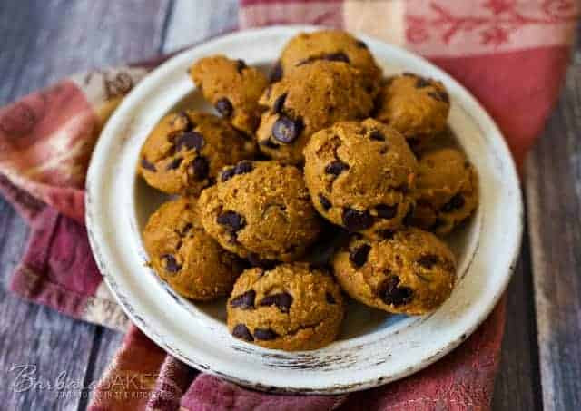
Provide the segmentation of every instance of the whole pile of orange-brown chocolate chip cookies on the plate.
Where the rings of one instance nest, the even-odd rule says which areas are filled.
[[[229,296],[235,338],[285,350],[337,338],[342,292],[409,315],[449,297],[456,262],[441,237],[478,207],[478,179],[445,143],[442,83],[383,78],[367,45],[340,31],[293,37],[270,79],[222,55],[190,75],[218,115],[168,114],[139,162],[176,196],[143,230],[172,289]],[[310,263],[330,230],[348,240]]]

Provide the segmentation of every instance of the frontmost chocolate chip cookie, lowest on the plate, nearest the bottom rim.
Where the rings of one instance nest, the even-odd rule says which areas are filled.
[[[287,351],[324,347],[339,334],[343,298],[330,274],[306,263],[247,269],[227,303],[231,334]]]

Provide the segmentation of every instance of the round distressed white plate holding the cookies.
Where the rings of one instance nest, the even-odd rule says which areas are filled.
[[[94,256],[113,295],[137,327],[174,357],[241,385],[270,391],[336,394],[408,376],[444,356],[487,318],[514,269],[522,231],[517,173],[495,123],[448,74],[417,55],[365,35],[385,73],[441,80],[451,98],[449,125],[478,170],[477,214],[450,243],[458,256],[452,296],[428,316],[386,316],[351,303],[340,339],[288,353],[232,338],[224,301],[193,304],[145,266],[140,231],[162,194],[136,178],[140,148],[162,116],[185,102],[210,109],[186,74],[209,54],[271,65],[294,34],[313,27],[271,27],[230,34],[162,64],[125,98],[94,150],[86,182],[86,222]]]

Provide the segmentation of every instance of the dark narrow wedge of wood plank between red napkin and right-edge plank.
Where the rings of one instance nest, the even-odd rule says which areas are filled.
[[[495,411],[543,409],[532,295],[529,244],[526,236],[517,269],[507,289],[507,323],[492,402],[492,409]]]

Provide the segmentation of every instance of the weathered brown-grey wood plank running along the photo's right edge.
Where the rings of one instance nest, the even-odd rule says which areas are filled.
[[[581,409],[581,51],[527,161],[528,232],[546,410]]]

